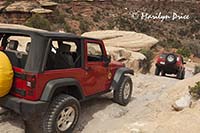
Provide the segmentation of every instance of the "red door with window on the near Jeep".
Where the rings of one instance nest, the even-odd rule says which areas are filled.
[[[103,42],[97,40],[85,40],[85,70],[86,92],[88,95],[108,90],[109,69],[105,66],[106,56]]]

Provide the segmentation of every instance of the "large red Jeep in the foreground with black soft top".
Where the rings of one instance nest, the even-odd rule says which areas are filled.
[[[14,71],[0,106],[22,115],[27,132],[71,133],[80,101],[110,91],[120,105],[131,99],[133,70],[111,62],[102,40],[10,25],[0,39]]]

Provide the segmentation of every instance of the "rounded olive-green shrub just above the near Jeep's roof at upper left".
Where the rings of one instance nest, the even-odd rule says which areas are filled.
[[[25,25],[33,28],[51,30],[50,22],[43,16],[40,16],[39,14],[34,14],[25,22]]]

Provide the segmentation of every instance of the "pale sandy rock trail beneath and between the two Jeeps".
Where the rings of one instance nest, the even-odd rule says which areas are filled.
[[[187,68],[186,77],[191,76],[192,68]],[[112,93],[82,103],[75,133],[153,132],[159,125],[154,121],[163,111],[163,105],[157,102],[159,96],[179,80],[151,74],[136,74],[132,80],[133,98],[126,107],[113,103]],[[18,115],[9,112],[0,116],[0,133],[23,133],[23,128]]]

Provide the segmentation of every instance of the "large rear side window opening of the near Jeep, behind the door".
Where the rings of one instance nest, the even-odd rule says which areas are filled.
[[[53,40],[47,59],[47,70],[80,67],[80,46],[73,41]]]

